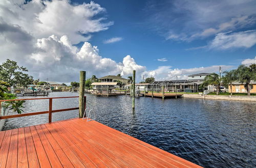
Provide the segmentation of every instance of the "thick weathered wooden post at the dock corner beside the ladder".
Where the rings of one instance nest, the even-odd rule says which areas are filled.
[[[82,118],[84,113],[84,87],[86,82],[86,71],[80,71],[79,83],[79,118]]]

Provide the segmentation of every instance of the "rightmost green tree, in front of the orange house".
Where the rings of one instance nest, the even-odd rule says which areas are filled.
[[[247,91],[247,95],[250,96],[250,82],[251,80],[256,80],[256,65],[240,65],[237,71],[239,82],[244,84],[244,88]]]

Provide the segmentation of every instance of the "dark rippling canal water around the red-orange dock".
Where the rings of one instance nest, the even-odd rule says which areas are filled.
[[[49,97],[78,96],[57,92]],[[205,167],[256,167],[256,103],[203,99],[98,97],[86,94],[97,121]],[[34,97],[33,97],[34,98]],[[48,100],[27,100],[25,113],[48,110]],[[53,109],[78,107],[78,98],[53,99]],[[10,114],[9,114],[10,115]],[[78,117],[54,113],[52,121]],[[4,130],[48,122],[48,115],[8,119]]]

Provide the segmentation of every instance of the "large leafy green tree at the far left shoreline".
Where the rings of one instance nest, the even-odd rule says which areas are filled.
[[[7,59],[0,65],[0,80],[6,81],[13,85],[26,86],[33,83],[33,77],[24,73],[28,72],[27,68],[18,66],[17,62]]]

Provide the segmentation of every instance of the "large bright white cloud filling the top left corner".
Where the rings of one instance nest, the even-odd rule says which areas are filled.
[[[81,5],[70,4],[68,0],[0,2],[0,17],[9,25],[18,25],[36,39],[67,35],[72,44],[87,41],[91,33],[108,29],[113,22],[100,17],[104,13],[105,9],[94,2]]]

